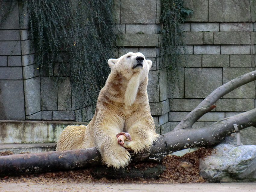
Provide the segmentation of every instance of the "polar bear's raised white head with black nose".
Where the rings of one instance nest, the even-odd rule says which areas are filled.
[[[148,75],[148,71],[152,66],[151,60],[146,60],[142,53],[127,53],[118,59],[109,59],[108,65],[111,72],[117,71],[127,79],[131,79],[134,74],[138,74],[140,79],[144,79]]]

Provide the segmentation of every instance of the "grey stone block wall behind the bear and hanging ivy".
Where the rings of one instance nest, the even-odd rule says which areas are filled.
[[[158,59],[161,0],[114,0],[116,57],[142,52],[153,61],[147,91],[151,114],[161,134],[172,130],[215,88],[256,69],[253,2],[184,0],[184,6],[194,14],[182,25],[185,54],[180,55],[173,86],[168,70]],[[39,76],[33,62],[28,14],[21,14],[21,10],[23,7],[16,2],[0,26],[0,119],[90,120],[95,105],[81,109],[73,106],[70,71],[57,81],[57,61],[50,76]],[[201,117],[194,127],[255,108],[255,94],[255,82],[232,91],[217,101],[216,109]],[[256,131],[243,132],[242,137],[247,137]]]

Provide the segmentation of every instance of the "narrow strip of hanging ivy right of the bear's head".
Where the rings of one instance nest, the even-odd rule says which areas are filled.
[[[169,69],[176,67],[180,50],[184,48],[181,24],[192,10],[183,6],[183,0],[161,0],[161,63]],[[168,64],[167,64],[168,63]]]

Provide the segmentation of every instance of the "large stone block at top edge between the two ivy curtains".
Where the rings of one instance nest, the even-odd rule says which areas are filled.
[[[160,0],[121,0],[120,18],[122,24],[155,24],[159,23],[161,14]]]

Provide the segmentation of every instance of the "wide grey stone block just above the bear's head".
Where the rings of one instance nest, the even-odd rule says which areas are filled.
[[[159,34],[118,34],[117,46],[120,47],[157,47]]]

